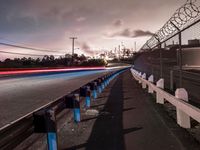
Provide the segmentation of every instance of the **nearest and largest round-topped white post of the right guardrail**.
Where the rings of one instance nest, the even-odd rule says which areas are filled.
[[[175,97],[188,102],[188,93],[184,88],[177,89]],[[177,123],[183,128],[190,128],[190,116],[176,107]]]

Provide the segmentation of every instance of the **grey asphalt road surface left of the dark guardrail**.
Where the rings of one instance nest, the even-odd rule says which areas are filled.
[[[0,127],[110,71],[113,69],[1,79]]]

